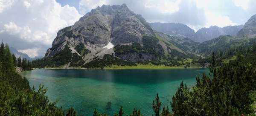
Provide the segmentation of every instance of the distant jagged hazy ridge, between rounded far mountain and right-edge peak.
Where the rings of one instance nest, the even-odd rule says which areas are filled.
[[[243,28],[243,25],[239,26],[226,26],[220,28],[218,26],[210,26],[209,28],[201,28],[199,29],[195,35],[191,38],[196,42],[204,42],[209,41],[213,38],[218,38],[221,35],[232,35],[236,36],[237,32]]]

